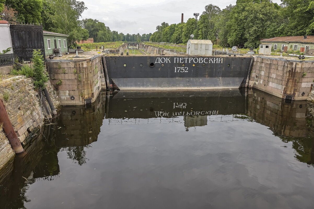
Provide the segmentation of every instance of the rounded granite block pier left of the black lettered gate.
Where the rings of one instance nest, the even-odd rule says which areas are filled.
[[[101,56],[88,60],[49,60],[47,71],[61,105],[94,102],[101,91]]]

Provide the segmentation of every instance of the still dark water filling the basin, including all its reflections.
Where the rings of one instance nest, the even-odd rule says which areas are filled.
[[[306,101],[244,89],[104,92],[52,123],[0,171],[0,208],[314,207]]]

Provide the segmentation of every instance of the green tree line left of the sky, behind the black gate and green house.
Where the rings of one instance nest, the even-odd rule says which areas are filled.
[[[0,20],[10,24],[41,24],[44,30],[68,34],[69,48],[88,38],[95,42],[141,42],[149,41],[152,35],[124,35],[96,19],[79,20],[86,9],[83,1],[76,0],[0,0]]]

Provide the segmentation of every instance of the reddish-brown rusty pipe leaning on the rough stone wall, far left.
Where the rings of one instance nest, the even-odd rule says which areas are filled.
[[[4,132],[7,134],[8,140],[12,145],[14,152],[15,153],[24,152],[22,144],[14,131],[12,123],[8,117],[8,113],[1,99],[0,99],[0,123],[3,123]]]

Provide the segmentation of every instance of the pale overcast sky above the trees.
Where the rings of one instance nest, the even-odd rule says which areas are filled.
[[[81,0],[82,1],[82,0]],[[82,18],[92,18],[103,22],[111,31],[124,34],[148,34],[156,31],[156,26],[162,22],[169,24],[180,23],[181,13],[184,22],[193,18],[193,13],[200,13],[205,6],[212,3],[221,9],[229,4],[236,4],[236,0],[117,0],[99,1],[83,0],[88,8]],[[273,0],[280,4],[280,0]]]

